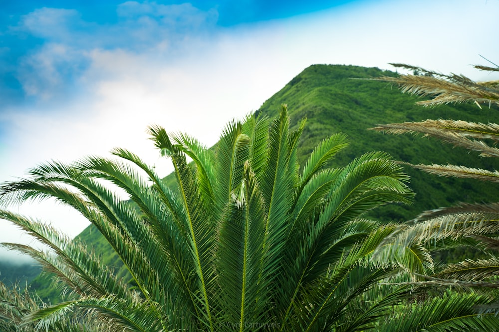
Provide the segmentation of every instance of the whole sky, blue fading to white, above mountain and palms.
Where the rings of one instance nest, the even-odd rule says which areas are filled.
[[[498,13],[498,0],[0,0],[0,181],[116,146],[166,175],[147,125],[210,146],[316,63],[491,79],[471,64],[499,62]],[[70,236],[87,225],[51,202],[19,211]],[[27,241],[1,227],[0,242]]]

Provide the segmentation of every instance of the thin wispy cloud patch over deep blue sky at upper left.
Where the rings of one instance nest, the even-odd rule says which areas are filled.
[[[71,93],[93,50],[178,56],[193,40],[207,38],[218,17],[215,9],[202,11],[189,3],[135,1],[119,5],[117,14],[114,25],[84,21],[73,9],[40,8],[22,16],[10,33],[42,40],[18,64],[16,77],[26,95],[48,100]]]

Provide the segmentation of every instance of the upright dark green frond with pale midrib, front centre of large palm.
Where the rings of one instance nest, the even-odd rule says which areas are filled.
[[[260,322],[265,311],[270,286],[262,280],[264,209],[263,198],[249,162],[243,174],[244,203],[227,207],[220,228],[218,269],[220,293],[226,308],[224,319],[239,322]],[[234,257],[240,257],[235,260]]]

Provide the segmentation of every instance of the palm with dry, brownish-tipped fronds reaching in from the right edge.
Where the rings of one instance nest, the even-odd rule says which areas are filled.
[[[414,70],[422,75],[401,75],[396,78],[382,78],[382,80],[399,84],[403,91],[423,96],[432,96],[432,99],[418,102],[424,106],[439,105],[442,103],[460,103],[473,101],[480,104],[499,105],[499,81],[474,82],[461,75],[443,75],[425,69],[395,64],[397,67]],[[499,71],[499,67],[475,66],[478,69]],[[426,120],[422,122],[404,122],[378,125],[374,130],[390,134],[420,133],[426,137],[437,138],[455,147],[477,151],[482,157],[499,157],[499,149],[495,147],[499,140],[499,125],[495,123],[473,123],[458,120]],[[446,177],[471,178],[481,181],[498,182],[499,172],[461,165],[411,165],[416,169],[430,174]],[[459,286],[462,289],[473,287],[475,292],[485,293],[475,306],[481,308],[478,312],[482,317],[495,316],[499,283],[498,250],[499,250],[499,203],[460,203],[453,207],[438,208],[426,211],[414,220],[399,227],[385,239],[383,245],[390,244],[393,248],[405,248],[411,245],[422,245],[428,250],[438,251],[457,246],[471,246],[480,249],[484,259],[466,259],[455,264],[438,266],[433,273],[421,276],[419,285],[426,286]],[[449,295],[444,298],[432,299],[432,306],[444,306],[449,311],[457,310],[464,304],[453,304],[453,301],[468,301],[468,307],[473,308],[473,297],[476,294]],[[468,300],[463,300],[469,298]],[[477,299],[476,299],[477,300]],[[484,302],[485,301],[485,302]],[[487,305],[486,305],[487,304]],[[454,309],[452,309],[454,308]],[[418,309],[423,316],[424,309]],[[418,310],[413,310],[417,312]],[[477,314],[473,308],[470,315]],[[406,313],[407,315],[407,313]],[[413,314],[411,314],[413,315]],[[407,317],[406,317],[407,318]],[[485,319],[485,318],[484,318]],[[494,318],[497,320],[497,318]],[[410,331],[408,319],[403,319],[407,325],[405,331]],[[419,324],[419,323],[418,323]],[[393,325],[401,327],[400,325]],[[416,326],[416,325],[414,325]],[[458,326],[454,326],[458,329]],[[462,328],[462,327],[461,327]],[[476,326],[479,331],[484,327]],[[388,330],[387,330],[388,331]],[[390,330],[392,331],[392,330]],[[393,330],[395,331],[395,330]]]

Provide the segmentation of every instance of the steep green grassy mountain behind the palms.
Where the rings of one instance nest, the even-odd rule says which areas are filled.
[[[335,161],[338,166],[346,165],[364,152],[378,150],[410,163],[449,162],[493,169],[491,160],[479,159],[476,154],[452,149],[430,139],[410,135],[396,137],[369,131],[376,124],[438,118],[499,123],[496,108],[479,109],[474,105],[423,108],[414,105],[418,100],[416,97],[402,94],[396,87],[385,82],[365,80],[382,75],[396,74],[377,68],[313,65],[263,103],[257,112],[275,117],[280,105],[286,103],[293,127],[303,117],[308,119],[298,150],[301,164],[320,140],[333,133],[343,132],[350,138],[350,147],[338,154]],[[405,221],[424,210],[449,206],[459,201],[496,201],[499,194],[491,191],[490,186],[476,181],[438,178],[410,167],[406,171],[411,176],[411,187],[417,195],[415,203],[411,206],[387,206],[373,212],[372,217],[385,221]],[[168,176],[165,181],[173,183],[173,176]],[[119,259],[111,253],[109,245],[93,226],[89,226],[78,237],[101,252],[105,262],[120,268]],[[42,298],[52,297],[55,292],[44,288],[44,284],[40,279],[33,282],[33,286],[42,291]]]

